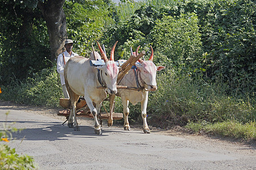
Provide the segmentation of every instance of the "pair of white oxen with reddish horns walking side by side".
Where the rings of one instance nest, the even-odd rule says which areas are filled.
[[[97,44],[101,52],[101,57],[104,59],[105,65],[97,67],[91,66],[90,60],[92,58],[97,59],[97,55],[92,57],[91,53],[90,58],[85,58],[81,56],[75,56],[70,58],[64,67],[65,84],[67,86],[69,99],[71,101],[71,114],[68,118],[68,127],[73,128],[76,131],[80,130],[76,120],[76,102],[79,100],[79,96],[84,96],[90,112],[93,114],[95,123],[94,131],[96,134],[102,134],[100,124],[98,123],[97,115],[100,114],[102,101],[106,99],[106,92],[108,92],[110,95],[110,116],[108,120],[109,126],[113,125],[113,101],[114,96],[117,95],[121,97],[123,104],[123,114],[125,119],[124,129],[130,130],[130,125],[128,121],[129,101],[134,105],[138,102],[141,102],[143,131],[144,133],[150,133],[150,129],[148,128],[146,121],[148,91],[155,91],[157,89],[156,71],[163,70],[165,67],[156,67],[155,64],[152,62],[153,50],[151,48],[151,56],[148,61],[139,59],[139,63],[136,64],[137,68],[135,69],[135,73],[138,75],[138,78],[135,78],[134,70],[130,70],[118,84],[130,87],[136,87],[137,84],[139,84],[139,86],[143,87],[143,89],[141,91],[118,89],[117,76],[121,67],[118,67],[114,62],[114,49],[117,42],[115,42],[112,48],[112,51],[110,53],[110,59],[106,57],[106,54],[102,50],[100,44],[98,42]],[[138,55],[138,49],[136,50],[136,55]],[[100,55],[98,54],[98,56]],[[101,80],[99,80],[99,77]],[[104,86],[105,88],[97,88],[98,86]],[[96,104],[96,107],[94,107],[93,103]]]

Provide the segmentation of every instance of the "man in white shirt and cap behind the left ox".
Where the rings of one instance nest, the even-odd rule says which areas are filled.
[[[66,99],[69,99],[68,91],[65,85],[65,79],[64,79],[64,66],[69,60],[69,58],[74,56],[79,56],[78,54],[72,52],[73,49],[73,41],[70,39],[67,39],[65,41],[65,52],[61,53],[57,58],[57,72],[60,74],[60,82],[63,90],[64,97]]]

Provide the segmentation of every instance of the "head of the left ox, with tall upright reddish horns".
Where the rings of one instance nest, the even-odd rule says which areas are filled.
[[[118,42],[118,41],[117,41]],[[117,93],[117,76],[119,73],[119,67],[114,62],[114,50],[115,45],[117,45],[117,42],[115,42],[112,51],[110,53],[110,59],[106,57],[106,54],[102,50],[100,44],[98,44],[98,48],[101,52],[101,57],[105,61],[105,65],[97,67],[97,69],[101,72],[102,81],[104,81],[106,85],[106,90],[109,94],[116,94]]]

